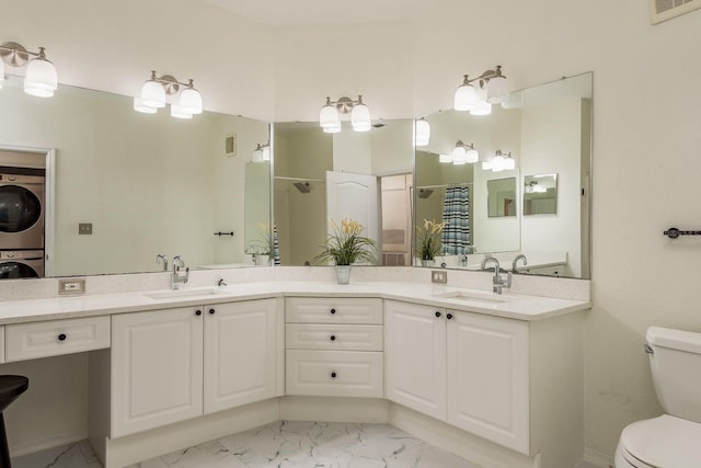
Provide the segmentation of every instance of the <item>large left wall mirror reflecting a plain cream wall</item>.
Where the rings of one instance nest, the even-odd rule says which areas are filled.
[[[269,226],[269,164],[250,162],[269,139],[267,123],[140,114],[131,98],[67,85],[36,99],[16,77],[0,102],[0,149],[55,149],[49,276],[156,272],[158,254],[182,255],[191,269],[252,264],[245,246]]]

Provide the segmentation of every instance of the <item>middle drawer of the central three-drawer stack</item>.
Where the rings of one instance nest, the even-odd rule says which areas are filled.
[[[382,326],[288,323],[288,350],[382,351]]]

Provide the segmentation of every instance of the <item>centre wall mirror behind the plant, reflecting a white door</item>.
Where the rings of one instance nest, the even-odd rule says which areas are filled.
[[[329,221],[353,218],[376,240],[378,265],[411,265],[411,119],[274,124],[274,225],[281,265],[319,264]]]

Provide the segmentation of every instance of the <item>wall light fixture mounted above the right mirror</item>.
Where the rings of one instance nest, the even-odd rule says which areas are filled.
[[[504,101],[506,95],[506,77],[502,73],[502,66],[494,70],[486,70],[476,78],[470,79],[464,75],[462,84],[458,87],[453,96],[456,111],[470,111],[472,115],[489,115],[492,104]]]

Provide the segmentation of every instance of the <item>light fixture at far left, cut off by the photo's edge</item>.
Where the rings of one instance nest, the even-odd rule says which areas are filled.
[[[30,56],[34,58],[30,59]],[[4,64],[11,67],[24,67],[24,92],[38,98],[50,98],[58,88],[58,76],[54,64],[46,59],[44,47],[38,52],[28,52],[18,43],[0,45],[0,88],[4,81]],[[3,64],[4,62],[4,64]]]

